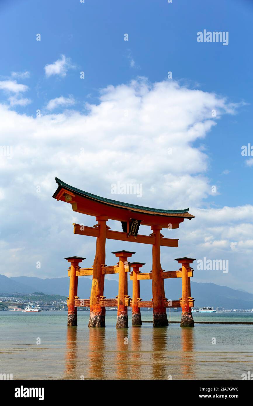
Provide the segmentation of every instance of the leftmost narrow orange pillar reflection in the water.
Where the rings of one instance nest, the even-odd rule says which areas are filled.
[[[65,379],[74,379],[77,363],[77,327],[67,327]]]

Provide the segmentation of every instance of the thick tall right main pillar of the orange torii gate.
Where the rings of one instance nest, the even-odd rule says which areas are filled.
[[[164,327],[168,326],[168,318],[166,307],[164,307],[164,284],[160,275],[160,241],[161,226],[151,226],[155,237],[155,244],[152,248],[152,294],[153,294],[153,326]]]

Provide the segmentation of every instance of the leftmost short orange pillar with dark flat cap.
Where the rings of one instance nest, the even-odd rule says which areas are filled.
[[[77,283],[78,276],[76,276],[76,268],[79,262],[82,262],[82,257],[67,257],[70,265],[70,279],[69,279],[69,301],[68,301],[68,326],[77,326],[77,307],[75,307],[75,296],[77,296]]]

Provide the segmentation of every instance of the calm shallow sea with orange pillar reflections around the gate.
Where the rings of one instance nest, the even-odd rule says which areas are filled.
[[[117,312],[106,328],[67,328],[67,312],[0,312],[0,373],[13,379],[242,379],[253,372],[253,325],[196,324],[153,328],[151,323],[116,330]],[[251,321],[252,313],[193,313],[195,321]],[[152,313],[143,311],[143,320]],[[168,314],[169,318],[169,314]],[[180,313],[171,312],[171,320]],[[38,337],[41,344],[37,345]],[[213,337],[216,345],[212,344]],[[128,343],[127,343],[128,342]]]

